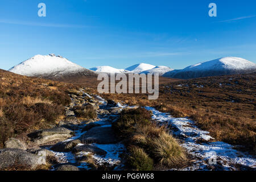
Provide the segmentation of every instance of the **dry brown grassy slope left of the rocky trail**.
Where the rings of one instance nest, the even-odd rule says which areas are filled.
[[[0,69],[0,148],[10,137],[55,125],[76,86]]]

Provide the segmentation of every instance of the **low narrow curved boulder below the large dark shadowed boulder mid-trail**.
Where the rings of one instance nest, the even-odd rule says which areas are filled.
[[[91,152],[93,154],[97,155],[106,155],[107,152],[105,150],[102,150],[101,148],[98,148],[96,146],[93,146],[92,144],[83,144],[79,145],[73,148],[73,153],[77,152]]]

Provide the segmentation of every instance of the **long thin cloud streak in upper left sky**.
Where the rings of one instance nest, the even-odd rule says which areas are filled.
[[[57,23],[38,23],[38,22],[22,22],[16,20],[0,20],[0,23],[18,24],[24,26],[40,26],[40,27],[56,27],[56,28],[88,28],[92,26],[84,26],[80,24],[57,24]]]

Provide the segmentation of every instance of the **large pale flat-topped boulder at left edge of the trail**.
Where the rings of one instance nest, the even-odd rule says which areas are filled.
[[[37,130],[28,134],[37,144],[43,144],[51,142],[53,140],[65,140],[73,137],[73,131],[66,129],[65,127],[53,127],[52,129]]]

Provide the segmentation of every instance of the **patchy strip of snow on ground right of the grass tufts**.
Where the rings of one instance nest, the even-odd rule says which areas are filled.
[[[181,140],[181,146],[196,158],[191,166],[182,170],[209,170],[212,167],[210,162],[215,159],[214,167],[220,170],[236,170],[237,165],[256,168],[256,159],[253,156],[234,150],[228,143],[211,142],[213,138],[209,132],[197,128],[195,122],[187,118],[173,118],[168,113],[162,113],[152,107],[145,108],[152,111],[152,119],[156,122],[170,126],[172,134]]]

